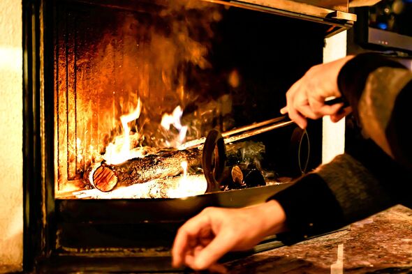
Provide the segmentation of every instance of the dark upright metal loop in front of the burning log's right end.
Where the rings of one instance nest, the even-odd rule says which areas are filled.
[[[226,166],[226,147],[219,130],[210,130],[203,145],[202,167],[207,181],[206,192],[220,190]]]

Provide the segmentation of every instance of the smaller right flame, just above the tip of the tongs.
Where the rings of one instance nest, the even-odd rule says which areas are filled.
[[[161,119],[161,126],[165,129],[168,130],[170,133],[170,126],[173,125],[175,129],[178,130],[179,134],[173,138],[173,139],[168,139],[166,140],[166,144],[168,146],[172,147],[177,147],[181,144],[183,144],[184,140],[186,139],[186,133],[188,127],[186,125],[182,125],[181,119],[182,119],[182,114],[183,110],[182,107],[179,105],[173,110],[172,114],[163,114],[162,119]]]

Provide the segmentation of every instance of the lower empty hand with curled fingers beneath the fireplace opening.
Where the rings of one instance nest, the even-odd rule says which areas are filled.
[[[224,272],[216,264],[218,259],[229,251],[249,250],[265,236],[284,231],[285,221],[284,210],[275,200],[247,208],[205,208],[177,231],[172,265]]]

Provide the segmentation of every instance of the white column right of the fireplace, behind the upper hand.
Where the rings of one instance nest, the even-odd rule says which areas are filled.
[[[346,31],[326,38],[323,49],[323,63],[346,56]],[[329,116],[323,117],[322,162],[330,162],[334,156],[344,153],[345,119],[332,123]]]

